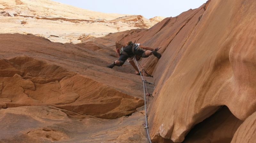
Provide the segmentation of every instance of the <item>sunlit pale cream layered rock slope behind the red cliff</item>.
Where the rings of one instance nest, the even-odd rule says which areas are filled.
[[[158,21],[141,15],[102,13],[50,0],[0,0],[0,33],[31,33],[61,43],[80,43],[86,35],[149,28]]]

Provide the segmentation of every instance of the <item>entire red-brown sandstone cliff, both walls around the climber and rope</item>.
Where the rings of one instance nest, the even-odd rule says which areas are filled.
[[[123,73],[133,72],[128,64],[104,68],[116,60],[116,45],[136,40],[162,46],[160,60],[141,61],[156,83],[148,116],[153,142],[254,142],[255,10],[253,0],[212,0],[150,29],[83,37],[75,46],[0,35],[0,105],[15,107],[0,110],[0,140],[145,142],[143,111],[121,117],[143,104],[140,79]],[[19,120],[6,120],[14,117],[34,126],[19,130],[11,126],[22,127]]]

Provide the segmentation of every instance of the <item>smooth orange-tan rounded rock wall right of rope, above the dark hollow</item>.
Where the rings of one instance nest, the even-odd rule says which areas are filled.
[[[194,125],[221,105],[240,120],[256,110],[255,8],[250,0],[211,1],[181,46],[181,54],[165,50],[156,65],[163,72],[149,113],[153,139],[182,142]],[[165,55],[173,53],[175,60],[166,61]]]

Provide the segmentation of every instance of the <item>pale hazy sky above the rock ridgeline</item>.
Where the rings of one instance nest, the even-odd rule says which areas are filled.
[[[195,9],[207,0],[53,0],[87,10],[105,13],[175,17],[181,12]]]

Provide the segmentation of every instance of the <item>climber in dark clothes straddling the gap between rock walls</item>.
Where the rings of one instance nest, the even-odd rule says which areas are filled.
[[[140,44],[135,44],[132,41],[129,41],[127,43],[127,46],[122,47],[120,50],[120,57],[118,60],[114,61],[112,64],[108,65],[108,68],[113,68],[114,66],[122,66],[124,62],[129,59],[129,61],[132,61],[131,58],[136,58],[137,61],[139,61],[141,58],[147,58],[150,55],[156,56],[158,59],[161,58],[161,54],[157,53],[157,51],[161,48],[161,46],[153,49],[148,46],[142,46]],[[144,51],[145,49],[146,51]],[[128,62],[129,62],[128,61]],[[132,64],[132,62],[130,62]],[[134,62],[133,62],[134,64]],[[136,68],[135,64],[132,65],[134,68]],[[136,73],[139,72],[138,69],[136,69]]]

